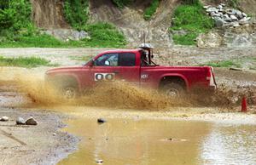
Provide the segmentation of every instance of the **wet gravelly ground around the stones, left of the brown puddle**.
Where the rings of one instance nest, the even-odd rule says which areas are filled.
[[[0,164],[55,164],[76,150],[79,139],[61,132],[65,117],[49,111],[0,106],[9,122],[0,122]],[[17,126],[17,117],[34,117],[37,126]]]

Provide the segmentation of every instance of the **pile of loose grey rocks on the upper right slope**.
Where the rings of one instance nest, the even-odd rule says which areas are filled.
[[[248,26],[251,17],[237,9],[228,9],[224,3],[218,5],[218,7],[205,6],[204,9],[215,20],[217,27],[237,27]]]

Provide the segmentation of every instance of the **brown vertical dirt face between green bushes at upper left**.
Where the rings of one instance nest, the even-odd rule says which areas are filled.
[[[31,0],[32,18],[38,27],[69,28],[64,18],[63,0]]]

